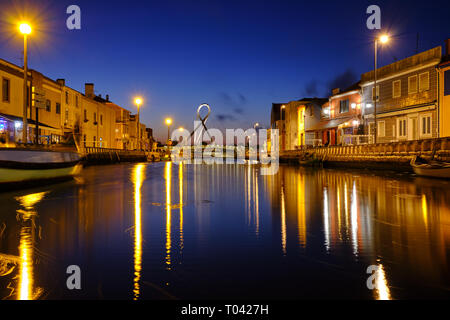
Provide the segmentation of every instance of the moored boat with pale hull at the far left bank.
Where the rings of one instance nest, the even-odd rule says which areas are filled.
[[[81,170],[75,151],[39,148],[0,148],[0,186],[61,180]]]

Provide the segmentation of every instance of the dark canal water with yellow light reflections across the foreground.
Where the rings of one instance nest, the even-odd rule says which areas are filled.
[[[297,167],[91,167],[0,194],[0,298],[449,298],[449,186]]]

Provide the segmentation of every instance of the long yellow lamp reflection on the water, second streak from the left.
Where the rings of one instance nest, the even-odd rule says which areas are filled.
[[[142,271],[142,211],[141,188],[145,180],[145,166],[138,164],[133,169],[132,181],[134,185],[134,300],[139,299]]]

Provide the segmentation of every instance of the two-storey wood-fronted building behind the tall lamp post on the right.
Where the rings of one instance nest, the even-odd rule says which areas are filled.
[[[437,66],[441,58],[441,47],[436,47],[382,67],[377,71],[376,89],[374,71],[361,76],[366,134],[373,136],[376,131],[378,143],[439,136]]]

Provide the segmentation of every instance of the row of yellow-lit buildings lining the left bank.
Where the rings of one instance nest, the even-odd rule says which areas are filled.
[[[136,117],[109,96],[97,96],[94,84],[85,84],[83,94],[64,79],[54,81],[35,70],[28,79],[28,90],[34,88],[42,100],[36,108],[28,95],[28,142],[35,143],[38,136],[40,144],[57,144],[74,136],[80,147],[135,150],[138,139],[149,144],[146,126],[136,125]],[[0,59],[0,81],[0,145],[22,142],[23,69]]]

